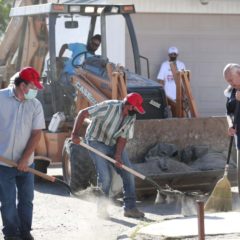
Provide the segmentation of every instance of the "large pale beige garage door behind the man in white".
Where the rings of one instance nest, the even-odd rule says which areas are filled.
[[[225,114],[222,70],[229,62],[240,63],[238,15],[134,14],[140,53],[149,58],[150,74],[156,79],[169,46],[178,47],[191,71],[191,86],[201,116]],[[130,46],[127,37],[127,48]],[[126,65],[132,56],[126,51]],[[146,69],[143,68],[143,71]],[[146,73],[146,71],[145,71]]]

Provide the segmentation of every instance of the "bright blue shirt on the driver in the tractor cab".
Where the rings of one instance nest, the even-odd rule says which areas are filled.
[[[71,58],[69,58],[65,63],[64,63],[64,72],[68,73],[70,75],[75,74],[75,68],[72,65],[72,60],[74,59],[74,57],[80,53],[84,53],[87,52],[87,47],[85,44],[83,43],[69,43],[68,44],[68,49],[72,52]],[[87,57],[91,57],[93,56],[93,54],[87,52],[86,55],[85,54],[81,54],[79,55],[75,60],[74,60],[74,64],[80,65],[83,63],[83,61],[85,60],[85,56]]]

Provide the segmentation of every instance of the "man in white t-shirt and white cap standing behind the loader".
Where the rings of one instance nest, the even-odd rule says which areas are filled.
[[[176,64],[177,70],[185,70],[185,64],[177,60],[178,49],[176,47],[170,47],[168,49],[169,60],[162,63],[159,70],[157,80],[164,86],[165,93],[168,98],[176,100],[176,84],[171,71],[170,62]]]

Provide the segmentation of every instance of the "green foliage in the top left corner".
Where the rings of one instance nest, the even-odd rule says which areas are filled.
[[[5,32],[9,22],[9,12],[13,0],[0,0],[0,36]]]

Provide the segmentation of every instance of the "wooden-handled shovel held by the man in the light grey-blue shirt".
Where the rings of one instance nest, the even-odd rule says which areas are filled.
[[[15,163],[15,162],[13,162],[13,161],[11,161],[11,160],[8,160],[8,159],[6,159],[6,158],[4,158],[4,157],[2,157],[2,156],[0,156],[0,162],[5,163],[5,164],[7,164],[7,165],[9,165],[9,166],[11,166],[11,167],[17,167],[17,163]],[[61,179],[59,179],[59,178],[56,178],[56,177],[47,175],[47,174],[42,173],[42,172],[40,172],[40,171],[38,171],[38,170],[36,170],[36,169],[33,169],[33,168],[28,168],[27,171],[30,172],[30,173],[32,173],[32,174],[34,174],[34,175],[36,175],[36,176],[38,176],[38,177],[41,177],[41,178],[43,178],[43,179],[45,179],[45,180],[48,180],[48,181],[50,181],[50,182],[60,183],[60,184],[64,185],[64,186],[69,190],[69,192],[70,192],[71,194],[75,195],[75,194],[72,192],[70,186],[69,186],[67,183],[65,183],[64,181],[62,181]]]

